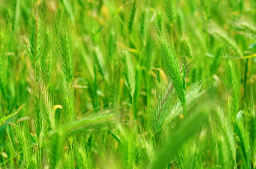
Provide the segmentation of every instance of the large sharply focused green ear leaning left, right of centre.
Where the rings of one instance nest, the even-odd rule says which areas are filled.
[[[172,40],[170,40],[170,36],[166,29],[162,31],[163,33],[160,33],[159,30],[155,30],[155,32],[157,34],[157,45],[161,59],[175,87],[177,96],[183,107],[184,116],[187,117],[185,90],[183,89],[183,81],[180,74],[180,68],[174,44]]]

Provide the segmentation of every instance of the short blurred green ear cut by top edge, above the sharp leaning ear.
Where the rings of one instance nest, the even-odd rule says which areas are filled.
[[[172,26],[177,15],[175,0],[164,0],[164,5],[169,24]]]

